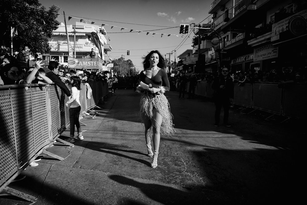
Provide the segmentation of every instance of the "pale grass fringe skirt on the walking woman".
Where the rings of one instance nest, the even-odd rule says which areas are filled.
[[[156,97],[150,97],[148,95],[141,95],[140,101],[140,117],[141,122],[144,123],[143,115],[145,114],[153,122],[154,116],[153,111],[157,110],[162,116],[161,129],[167,136],[172,135],[175,131],[173,124],[173,115],[170,112],[169,101],[166,99],[165,95],[156,95]],[[151,123],[150,131],[152,133],[153,124]],[[160,129],[160,130],[161,130]],[[150,133],[150,138],[151,138]]]

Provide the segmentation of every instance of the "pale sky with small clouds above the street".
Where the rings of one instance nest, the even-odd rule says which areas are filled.
[[[107,24],[104,28],[111,39],[112,51],[123,52],[111,53],[113,59],[124,55],[125,59],[131,59],[139,70],[143,69],[141,57],[151,50],[159,50],[163,57],[166,55],[167,58],[169,56],[167,53],[172,52],[171,61],[174,61],[174,49],[176,49],[176,57],[186,49],[192,49],[191,42],[194,34],[190,38],[182,37],[179,35],[179,26],[210,21],[211,18],[207,17],[210,16],[208,11],[212,2],[213,0],[40,0],[46,8],[53,4],[59,6],[60,14],[65,12],[67,24],[80,22],[78,18],[88,20],[89,24],[91,22],[99,26]],[[76,18],[68,22],[68,16],[76,16]],[[64,22],[63,15],[60,15],[57,20]],[[111,25],[114,26],[112,29]],[[121,28],[124,29],[121,30]],[[136,30],[144,32],[135,32]],[[147,32],[150,33],[147,34]],[[168,36],[169,34],[172,35]],[[126,55],[126,50],[130,50],[130,56]]]

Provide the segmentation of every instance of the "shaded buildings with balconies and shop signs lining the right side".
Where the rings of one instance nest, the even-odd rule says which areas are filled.
[[[193,49],[201,55],[199,73],[215,73],[222,66],[233,73],[306,69],[306,1],[215,0],[209,14],[212,20],[202,27],[211,30],[201,35],[212,46],[207,40],[201,41],[200,52]]]

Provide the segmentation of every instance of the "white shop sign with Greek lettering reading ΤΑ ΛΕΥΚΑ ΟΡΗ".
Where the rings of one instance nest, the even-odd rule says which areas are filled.
[[[273,44],[261,46],[259,48],[254,49],[254,62],[277,57],[278,47],[274,47]]]

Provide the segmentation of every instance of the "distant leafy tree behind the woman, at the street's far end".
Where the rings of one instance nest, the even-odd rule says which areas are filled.
[[[114,73],[116,73],[117,76],[128,77],[138,74],[138,71],[135,69],[133,62],[130,59],[125,60],[124,57],[120,57],[113,60],[112,63],[118,65],[114,67]]]

